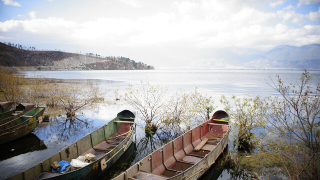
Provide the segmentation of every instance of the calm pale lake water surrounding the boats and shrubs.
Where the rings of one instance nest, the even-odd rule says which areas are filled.
[[[103,89],[118,89],[120,94],[125,92],[125,88],[129,84],[138,85],[141,80],[148,80],[153,85],[159,84],[168,87],[169,93],[179,88],[186,91],[194,91],[197,88],[202,94],[208,94],[213,97],[215,105],[218,106],[215,110],[218,110],[223,109],[223,105],[219,102],[221,95],[225,95],[227,98],[232,95],[239,97],[277,95],[275,90],[268,84],[272,83],[270,77],[276,80],[276,74],[279,74],[285,82],[295,83],[299,81],[302,70],[62,70],[25,71],[24,73],[27,77],[82,79],[78,81],[81,83],[93,83]],[[310,71],[310,75],[312,76],[311,85],[315,86],[316,83],[320,82],[319,70]],[[12,176],[46,159],[67,144],[107,123],[123,109],[134,111],[132,107],[123,102],[113,105],[101,104],[90,110],[82,110],[78,116],[80,120],[72,123],[65,121],[63,117],[58,117],[57,119],[51,119],[50,122],[39,124],[31,135],[4,144],[5,148],[0,150],[0,179],[5,176]],[[141,120],[137,120],[138,124],[143,126]],[[132,154],[128,152],[128,157],[124,157],[124,161],[130,159],[129,166],[174,138],[168,136],[165,132],[146,137],[141,126],[137,126],[136,143],[132,147]],[[229,146],[232,144],[230,141]],[[110,174],[105,174],[105,176],[108,178]],[[226,170],[216,165],[210,168],[203,178],[228,179],[229,176]]]

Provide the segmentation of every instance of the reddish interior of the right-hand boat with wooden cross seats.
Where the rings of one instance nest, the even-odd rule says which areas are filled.
[[[221,120],[225,119],[225,120]],[[173,177],[197,164],[227,133],[229,117],[216,115],[152,152],[118,176],[118,179],[160,180]]]

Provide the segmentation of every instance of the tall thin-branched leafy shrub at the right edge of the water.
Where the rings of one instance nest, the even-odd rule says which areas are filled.
[[[279,96],[266,99],[265,128],[271,138],[267,153],[281,160],[291,179],[319,179],[320,83],[312,88],[307,70],[300,81],[285,85],[277,75],[272,87]]]

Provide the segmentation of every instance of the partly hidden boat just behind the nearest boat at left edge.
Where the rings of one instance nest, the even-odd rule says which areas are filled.
[[[19,115],[27,113],[29,109],[34,108],[34,104],[31,103],[19,103],[15,109],[0,113],[0,124],[3,124],[9,120],[17,118]]]

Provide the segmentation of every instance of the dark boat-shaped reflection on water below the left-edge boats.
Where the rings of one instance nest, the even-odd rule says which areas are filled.
[[[46,148],[43,140],[40,140],[39,137],[33,133],[29,133],[28,135],[2,144],[0,148],[0,160]]]

